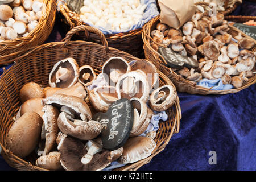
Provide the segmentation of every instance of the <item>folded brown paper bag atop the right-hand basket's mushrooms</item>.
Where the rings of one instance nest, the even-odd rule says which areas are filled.
[[[160,22],[179,29],[196,12],[193,0],[158,0],[161,9]]]

